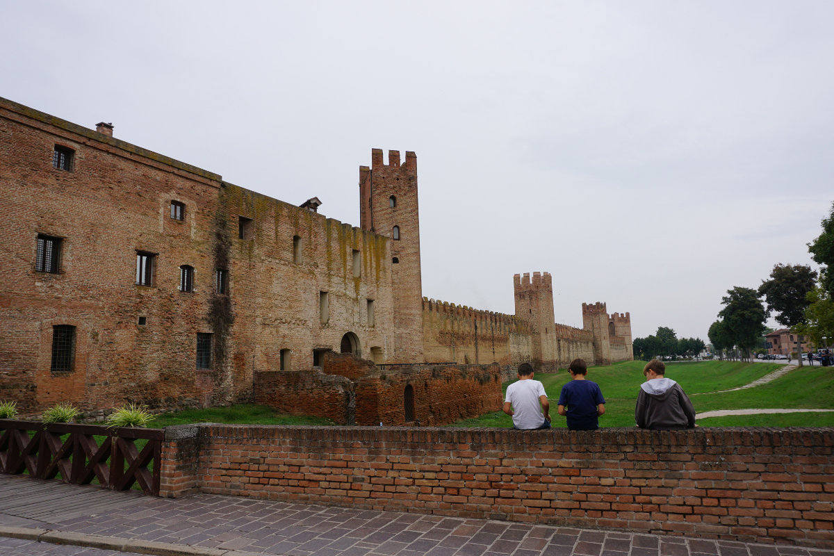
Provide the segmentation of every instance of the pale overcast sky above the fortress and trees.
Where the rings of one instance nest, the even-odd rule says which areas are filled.
[[[0,96],[359,225],[415,151],[423,295],[514,273],[706,339],[834,200],[834,3],[6,2]],[[387,160],[387,154],[386,154]],[[816,265],[814,266],[816,268]]]

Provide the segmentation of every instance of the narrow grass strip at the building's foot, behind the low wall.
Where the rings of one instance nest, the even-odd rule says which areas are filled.
[[[185,409],[178,413],[161,413],[149,427],[163,428],[188,423],[227,423],[261,425],[331,425],[332,421],[308,415],[278,413],[265,405],[233,405],[228,408]]]

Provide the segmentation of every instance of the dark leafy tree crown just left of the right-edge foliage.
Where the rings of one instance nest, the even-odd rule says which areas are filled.
[[[776,322],[789,328],[805,319],[805,309],[811,304],[806,299],[814,289],[816,270],[801,264],[777,264],[770,280],[762,280],[759,295],[765,298],[767,313],[779,313]]]

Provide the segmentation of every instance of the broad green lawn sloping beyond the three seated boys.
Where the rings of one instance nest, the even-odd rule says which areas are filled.
[[[641,361],[625,361],[607,367],[588,369],[588,378],[600,385],[602,395],[605,397],[605,415],[600,417],[600,427],[634,426],[634,406],[640,385],[645,381],[643,377],[645,364]],[[827,372],[827,368],[823,367],[816,367],[812,371],[797,370],[765,386],[738,392],[708,393],[751,383],[782,366],[780,363],[730,361],[672,363],[666,366],[666,377],[681,383],[681,387],[687,394],[701,393],[699,396],[691,396],[692,404],[698,413],[713,409],[834,408],[834,373]],[[539,373],[535,375],[535,378],[545,386],[547,397],[550,398],[550,416],[553,425],[565,427],[565,418],[556,413],[555,405],[562,385],[570,380],[570,374],[560,369],[559,373]],[[505,389],[509,384],[505,384]],[[757,426],[783,426],[778,423],[782,423],[781,419],[787,417],[793,418],[790,415],[762,415],[762,424],[757,424]],[[745,426],[747,423],[745,419],[750,418],[751,416],[721,418],[721,426]],[[802,415],[798,423],[807,422],[809,418],[807,414]],[[822,419],[821,422],[829,423],[830,421],[825,421],[827,418],[829,417],[819,417]],[[703,423],[699,420],[698,424],[706,426],[712,422],[713,419],[704,419]],[[458,421],[449,426],[512,427],[512,418],[499,411],[487,413],[480,418]]]

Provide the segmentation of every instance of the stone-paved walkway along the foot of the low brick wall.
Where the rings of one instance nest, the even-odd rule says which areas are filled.
[[[0,485],[25,495],[31,478],[0,475]],[[70,546],[53,548],[31,538],[0,537],[4,556],[37,553],[112,556],[127,551],[73,546],[145,546],[143,553],[204,556],[834,556],[834,551],[729,541],[560,528],[485,519],[445,518],[420,513],[270,502],[196,494],[187,498],[142,498],[118,508],[123,493],[48,482],[61,498],[79,491],[106,493],[113,501],[91,501],[88,515],[58,523],[6,513],[0,533],[52,536]],[[91,498],[92,499],[92,498]],[[37,515],[32,513],[33,516]],[[57,533],[46,533],[52,530]],[[27,531],[29,533],[27,533]],[[73,534],[74,533],[74,534]],[[164,549],[168,547],[168,551]],[[47,548],[46,551],[43,548]],[[53,552],[49,552],[53,550]]]

